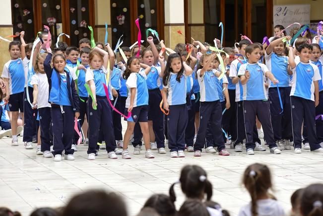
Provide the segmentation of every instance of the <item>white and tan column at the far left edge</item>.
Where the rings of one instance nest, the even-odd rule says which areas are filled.
[[[11,20],[11,0],[1,0],[1,13],[0,13],[0,36],[5,37],[7,35],[12,35],[12,20]],[[8,38],[12,40],[12,38]],[[0,73],[2,73],[3,65],[10,60],[10,55],[8,52],[9,43],[5,41],[0,41]]]

